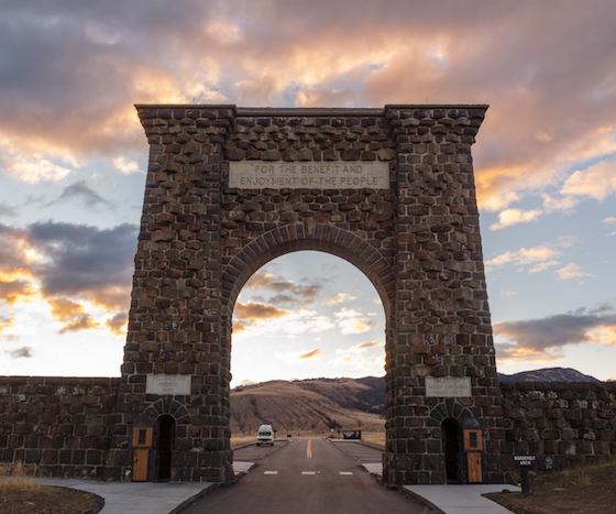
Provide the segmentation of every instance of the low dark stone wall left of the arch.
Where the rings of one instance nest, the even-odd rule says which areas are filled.
[[[120,380],[0,376],[0,462],[103,478]]]

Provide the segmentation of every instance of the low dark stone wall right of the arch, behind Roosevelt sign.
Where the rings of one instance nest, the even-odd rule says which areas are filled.
[[[514,455],[562,469],[616,456],[616,383],[504,383]]]

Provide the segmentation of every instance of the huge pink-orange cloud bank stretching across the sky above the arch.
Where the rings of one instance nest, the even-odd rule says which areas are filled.
[[[64,167],[51,156],[142,151],[134,102],[490,102],[477,192],[482,207],[503,210],[616,150],[614,9],[564,0],[546,26],[554,12],[541,2],[474,6],[187,0],[182,10],[130,2],[118,15],[89,2],[10,2],[0,119],[11,121],[0,132],[20,156],[36,150]]]

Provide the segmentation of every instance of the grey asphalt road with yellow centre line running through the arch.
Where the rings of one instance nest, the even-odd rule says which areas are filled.
[[[248,451],[246,451],[248,450]],[[266,451],[270,450],[270,451]],[[244,460],[249,449],[239,450]],[[321,439],[258,448],[258,466],[230,488],[206,494],[186,512],[196,514],[409,514],[428,508],[386,490],[355,459]]]

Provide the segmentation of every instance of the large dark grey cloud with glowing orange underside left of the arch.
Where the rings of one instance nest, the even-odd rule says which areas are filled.
[[[63,333],[95,328],[99,324],[82,302],[113,313],[128,307],[135,243],[136,227],[130,225],[0,225],[0,299],[46,300]]]

